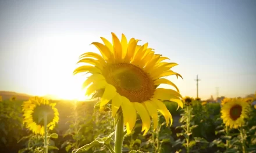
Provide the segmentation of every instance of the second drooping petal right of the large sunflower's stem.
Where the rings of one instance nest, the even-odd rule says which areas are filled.
[[[140,118],[143,123],[141,131],[145,130],[143,134],[145,135],[148,132],[148,130],[150,130],[150,125],[151,125],[150,115],[148,114],[143,104],[134,102],[133,105],[134,105],[134,108],[137,110],[138,114],[140,115]]]

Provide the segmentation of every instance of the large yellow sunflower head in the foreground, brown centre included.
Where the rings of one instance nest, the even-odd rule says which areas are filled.
[[[150,129],[152,117],[154,128],[158,126],[157,111],[166,119],[166,125],[172,125],[172,115],[163,104],[162,100],[175,101],[183,107],[177,86],[168,79],[162,78],[169,75],[180,74],[170,68],[177,65],[168,63],[167,57],[155,54],[153,49],[148,48],[148,43],[137,45],[138,39],[131,38],[129,42],[122,34],[121,41],[112,33],[112,41],[102,38],[104,44],[93,42],[101,52],[88,52],[80,56],[78,63],[87,63],[76,70],[89,72],[92,75],[84,82],[87,87],[87,95],[97,90],[104,89],[101,96],[100,106],[103,107],[109,101],[112,104],[112,116],[115,116],[119,108],[122,108],[123,119],[127,134],[130,134],[136,122],[136,112],[143,121],[142,131],[144,134]],[[90,85],[90,83],[93,83]],[[176,90],[157,88],[161,83],[173,86]],[[90,86],[89,86],[90,85]]]

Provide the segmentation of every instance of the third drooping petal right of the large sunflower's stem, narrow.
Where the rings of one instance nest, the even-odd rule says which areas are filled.
[[[150,116],[152,117],[152,120],[154,123],[154,129],[157,129],[158,128],[157,108],[154,107],[154,105],[152,104],[152,101],[145,101],[143,104],[145,105],[148,112],[150,113]]]

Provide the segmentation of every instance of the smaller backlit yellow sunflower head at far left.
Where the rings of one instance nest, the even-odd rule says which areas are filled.
[[[35,134],[44,135],[44,115],[47,114],[47,128],[54,129],[59,121],[59,112],[55,108],[56,103],[49,103],[41,97],[31,97],[22,104],[22,111],[26,128]]]

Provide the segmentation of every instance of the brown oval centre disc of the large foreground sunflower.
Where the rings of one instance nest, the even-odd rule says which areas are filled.
[[[106,82],[115,86],[121,96],[131,102],[149,100],[155,91],[154,81],[136,65],[118,63],[106,65],[103,71]]]

